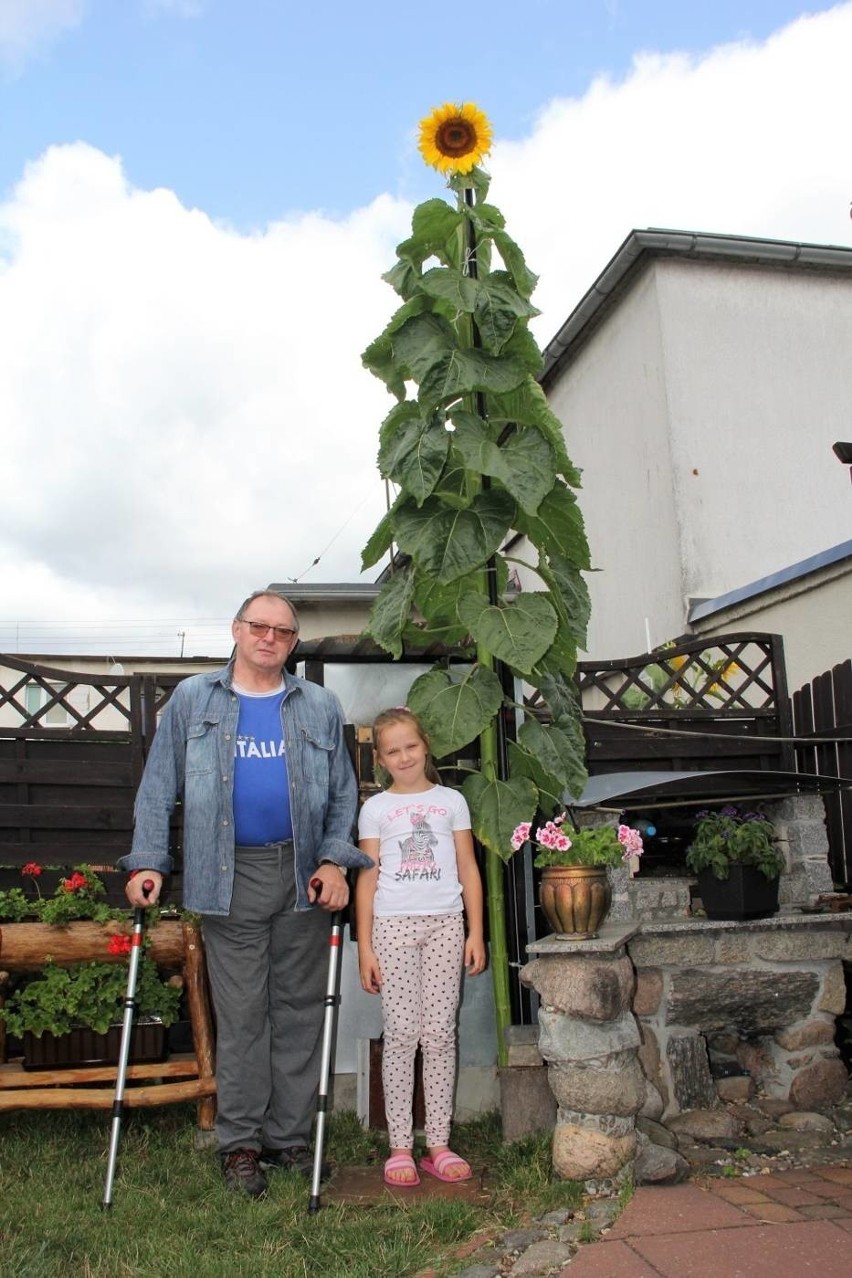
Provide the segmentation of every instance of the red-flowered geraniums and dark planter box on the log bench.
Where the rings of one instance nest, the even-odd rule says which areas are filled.
[[[41,868],[29,863],[22,873],[37,882]],[[32,933],[33,925],[56,929],[55,944],[50,939],[42,942],[50,955],[47,961],[40,970],[23,975],[0,1007],[6,1033],[22,1042],[24,1068],[118,1058],[128,979],[126,965],[118,960],[129,956],[132,942],[125,932],[107,927],[101,932],[100,925],[115,918],[126,920],[126,911],[111,910],[103,897],[103,884],[87,865],[75,866],[46,900],[41,896],[27,900],[18,888],[0,893],[0,919],[11,924],[4,927],[4,952],[9,952],[10,960],[15,956],[18,930]],[[70,955],[80,952],[74,930],[79,925],[86,930],[86,951],[101,948],[103,958],[68,961]],[[181,985],[180,976],[164,979],[148,953],[141,956],[133,1059],[162,1058],[165,1030],[178,1019]]]

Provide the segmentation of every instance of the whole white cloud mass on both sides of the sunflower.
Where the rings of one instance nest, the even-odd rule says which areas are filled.
[[[852,5],[761,45],[639,56],[501,143],[492,196],[549,339],[634,226],[848,243]],[[227,616],[354,579],[383,509],[360,366],[410,208],[238,234],[118,158],[55,147],[0,207],[6,617]],[[342,525],[345,525],[341,532]]]

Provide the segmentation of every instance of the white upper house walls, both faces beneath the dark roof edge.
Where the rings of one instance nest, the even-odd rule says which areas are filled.
[[[584,470],[595,659],[848,538],[849,350],[848,275],[651,258],[609,307],[548,390]]]

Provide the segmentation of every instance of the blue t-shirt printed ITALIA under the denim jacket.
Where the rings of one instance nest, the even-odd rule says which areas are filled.
[[[284,689],[264,697],[238,690],[234,767],[234,835],[238,845],[262,847],[293,838],[287,758],[281,727]]]

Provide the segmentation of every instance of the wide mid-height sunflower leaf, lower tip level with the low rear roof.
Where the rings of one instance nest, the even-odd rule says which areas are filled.
[[[498,550],[515,509],[508,493],[498,489],[478,493],[466,510],[447,509],[434,497],[420,507],[407,501],[396,515],[396,541],[422,571],[453,581]]]

